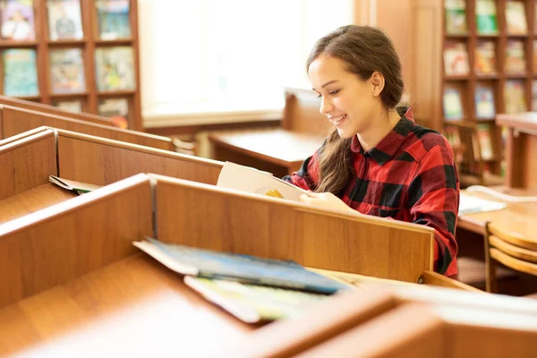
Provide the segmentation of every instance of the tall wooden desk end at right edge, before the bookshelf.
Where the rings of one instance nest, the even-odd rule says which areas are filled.
[[[506,185],[537,189],[537,113],[496,115],[496,124],[507,126]]]

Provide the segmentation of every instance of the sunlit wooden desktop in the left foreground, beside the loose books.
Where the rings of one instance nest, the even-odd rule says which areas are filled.
[[[136,254],[0,309],[0,355],[209,356],[253,329]]]

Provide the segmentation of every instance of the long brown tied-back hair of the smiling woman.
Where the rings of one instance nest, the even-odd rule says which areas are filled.
[[[401,64],[393,43],[384,31],[371,26],[343,26],[324,38],[320,38],[306,63],[310,64],[320,55],[333,56],[344,61],[348,72],[356,74],[362,81],[373,72],[384,76],[384,89],[380,100],[387,109],[396,107],[403,94]],[[315,192],[332,192],[338,195],[354,175],[352,138],[342,139],[333,127],[320,152],[320,181]]]

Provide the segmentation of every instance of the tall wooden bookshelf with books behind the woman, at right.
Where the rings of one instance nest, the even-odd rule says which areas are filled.
[[[536,3],[415,4],[414,40],[425,47],[416,51],[415,62],[423,64],[420,71],[430,71],[416,79],[416,120],[465,147],[458,163],[463,185],[503,182],[506,132],[495,124],[495,116],[537,110]]]

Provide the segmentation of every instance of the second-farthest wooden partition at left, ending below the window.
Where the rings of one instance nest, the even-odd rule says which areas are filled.
[[[175,150],[172,140],[154,134],[114,128],[105,124],[95,124],[61,115],[47,114],[30,109],[0,106],[3,138],[30,131],[46,125],[73,132],[81,132],[115,141],[126,141],[152,148]]]

